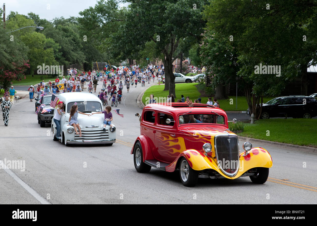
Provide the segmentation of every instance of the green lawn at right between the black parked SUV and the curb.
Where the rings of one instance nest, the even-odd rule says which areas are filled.
[[[239,136],[317,147],[316,119],[261,119],[255,124],[244,125],[244,131]]]

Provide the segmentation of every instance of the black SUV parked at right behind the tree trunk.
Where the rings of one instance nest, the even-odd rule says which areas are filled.
[[[247,114],[251,116],[249,108]],[[310,119],[317,115],[317,100],[311,96],[283,96],[263,103],[261,119],[293,117]]]

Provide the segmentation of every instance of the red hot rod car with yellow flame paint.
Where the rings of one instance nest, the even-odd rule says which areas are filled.
[[[226,113],[217,107],[192,103],[155,103],[143,108],[141,135],[131,154],[140,173],[151,167],[167,172],[179,169],[184,186],[195,186],[198,177],[236,179],[249,176],[263,184],[272,158],[263,148],[243,144],[228,129]],[[236,122],[234,119],[233,122]]]

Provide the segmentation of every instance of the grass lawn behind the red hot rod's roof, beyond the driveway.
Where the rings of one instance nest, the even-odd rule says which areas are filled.
[[[198,83],[179,83],[175,86],[176,91],[176,98],[181,99],[181,95],[184,95],[184,98],[186,99],[186,96],[189,96],[190,99],[194,102],[195,99],[198,99],[200,97],[200,93],[197,90],[196,86]],[[146,97],[149,97],[150,94],[154,94],[154,97],[166,97],[168,95],[168,91],[163,91],[164,84],[160,86],[152,86],[149,89],[146,90],[146,92],[143,95],[142,102],[146,102]],[[266,103],[269,100],[272,100],[275,97],[263,97],[263,102]],[[232,99],[232,100],[230,100]],[[201,97],[202,103],[207,103],[208,97]],[[246,111],[248,109],[248,103],[244,96],[238,96],[238,108],[236,108],[236,96],[229,96],[229,99],[227,100],[218,100],[220,108],[222,108],[225,111]]]

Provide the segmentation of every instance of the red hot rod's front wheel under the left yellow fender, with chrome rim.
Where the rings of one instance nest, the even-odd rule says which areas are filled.
[[[198,171],[193,170],[184,157],[179,163],[179,176],[183,185],[186,187],[193,187],[197,184]]]

